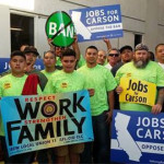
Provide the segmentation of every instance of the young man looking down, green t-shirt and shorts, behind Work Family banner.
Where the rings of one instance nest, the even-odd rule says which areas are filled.
[[[84,78],[74,70],[77,62],[75,51],[66,49],[61,54],[62,70],[55,73],[46,85],[46,93],[73,92],[84,89]],[[70,163],[79,163],[79,155],[84,148],[83,143],[63,145],[55,148],[57,163],[65,163],[66,156],[69,155]]]

